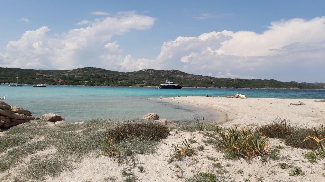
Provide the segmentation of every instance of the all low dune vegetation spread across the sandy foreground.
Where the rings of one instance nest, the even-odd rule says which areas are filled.
[[[178,178],[188,182],[231,181],[224,176],[229,173],[226,166],[230,165],[225,165],[227,160],[234,162],[240,158],[251,159],[256,156],[261,156],[263,163],[281,160],[279,168],[290,168],[290,176],[304,176],[301,168],[282,162],[280,153],[284,147],[276,145],[271,148],[267,137],[284,139],[286,144],[293,147],[314,149],[304,154],[310,163],[325,158],[319,150],[319,144],[311,140],[304,141],[306,136],[315,134],[311,132],[313,129],[296,126],[290,120],[278,119],[257,127],[256,130],[248,127],[239,129],[235,125],[221,127],[206,122],[194,118],[192,123],[171,123],[168,126],[174,129],[173,135],[183,138],[183,141],[169,145],[172,154],[166,160],[168,163],[174,162],[173,165],[180,171],[176,174]],[[325,131],[323,126],[318,126],[316,130],[320,133]],[[196,131],[197,135],[202,134],[205,139],[198,140],[197,136],[192,136],[194,133],[183,137],[182,131]],[[56,177],[62,171],[76,168],[85,157],[96,158],[104,154],[121,166],[127,166],[121,169],[124,181],[138,181],[138,175],[145,173],[146,169],[136,154],[155,154],[161,141],[169,135],[170,130],[166,125],[139,119],[94,119],[84,124],[28,122],[12,127],[0,136],[0,172],[4,174],[10,169],[17,170],[16,181],[43,181],[49,176]],[[195,158],[206,150],[200,144],[202,142],[209,145],[206,148],[212,145],[215,153],[222,152],[223,158],[212,157],[210,154],[204,157],[211,162],[213,173],[199,171],[192,177],[184,175],[181,164],[175,161],[182,163],[185,157],[196,161]],[[236,172],[244,175],[242,169],[236,169]],[[114,180],[112,177],[106,181]]]

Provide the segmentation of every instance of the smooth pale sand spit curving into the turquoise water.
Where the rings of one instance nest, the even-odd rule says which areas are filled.
[[[225,98],[225,97],[174,97],[164,98],[197,104],[221,114],[219,122],[224,124],[264,124],[269,119],[288,118],[293,123],[315,126],[325,124],[325,102],[315,99],[283,98]],[[304,102],[306,105],[291,106]]]

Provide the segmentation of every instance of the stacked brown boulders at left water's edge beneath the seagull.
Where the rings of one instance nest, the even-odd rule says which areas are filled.
[[[31,111],[17,106],[11,106],[4,101],[0,101],[1,127],[9,128],[34,119],[35,118],[32,117]]]

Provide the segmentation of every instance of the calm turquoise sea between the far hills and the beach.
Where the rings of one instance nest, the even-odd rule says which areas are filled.
[[[34,117],[57,113],[68,122],[97,118],[131,119],[142,118],[147,113],[158,113],[161,119],[182,121],[198,115],[210,120],[218,114],[203,107],[190,104],[161,101],[158,97],[220,96],[237,92],[251,98],[305,98],[325,99],[325,90],[294,89],[220,89],[182,88],[155,89],[152,87],[83,87],[47,86],[34,88],[31,85],[8,87],[0,85],[0,97],[7,95],[6,102],[32,111]]]

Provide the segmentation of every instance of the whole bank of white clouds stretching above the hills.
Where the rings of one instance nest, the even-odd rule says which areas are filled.
[[[117,71],[177,69],[222,78],[279,80],[297,80],[292,73],[305,74],[304,70],[309,70],[310,79],[325,76],[321,69],[325,67],[325,17],[271,22],[260,34],[224,30],[198,37],[178,37],[164,42],[153,60],[145,55],[133,58],[111,40],[113,35],[132,29],[149,29],[155,21],[156,18],[136,12],[119,12],[93,21],[82,20],[76,24],[89,26],[60,35],[51,35],[46,26],[26,31],[19,40],[8,42],[5,52],[0,53],[0,66],[35,69],[92,66]]]

